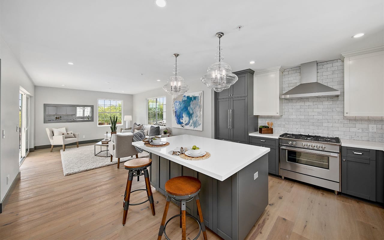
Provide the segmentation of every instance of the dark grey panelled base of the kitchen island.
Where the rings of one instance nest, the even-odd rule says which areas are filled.
[[[151,185],[164,195],[165,183],[172,177],[192,176],[200,180],[204,224],[225,240],[244,239],[268,205],[268,154],[223,181],[153,153],[150,158]],[[254,179],[256,172],[258,177]],[[186,211],[198,218],[194,201],[187,202]]]

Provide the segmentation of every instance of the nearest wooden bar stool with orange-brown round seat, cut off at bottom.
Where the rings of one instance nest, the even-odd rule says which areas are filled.
[[[161,240],[161,236],[163,235],[163,233],[164,233],[164,237],[166,237],[167,240],[170,240],[166,233],[166,226],[170,220],[179,216],[180,216],[180,227],[182,228],[182,233],[181,233],[182,240],[186,240],[186,235],[187,235],[186,233],[187,229],[185,226],[186,216],[194,218],[196,222],[199,224],[199,234],[197,234],[197,236],[193,240],[196,240],[200,236],[201,232],[203,232],[204,240],[207,240],[207,232],[205,232],[203,213],[201,212],[201,206],[200,206],[200,200],[199,200],[199,192],[201,188],[200,180],[195,177],[189,177],[189,176],[174,177],[172,179],[169,179],[166,182],[165,188],[167,193],[167,202],[166,202],[166,207],[164,209],[163,218],[161,220],[159,237],[157,237],[157,240]],[[177,214],[169,218],[169,220],[166,222],[169,203],[171,199],[175,200],[176,202],[180,202],[180,214]],[[193,199],[196,200],[197,211],[199,213],[200,221],[197,220],[197,218],[195,218],[194,216],[185,213],[186,202],[189,202]]]

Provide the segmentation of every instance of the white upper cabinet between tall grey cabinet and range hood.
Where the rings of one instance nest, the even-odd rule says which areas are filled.
[[[253,115],[283,115],[283,71],[281,66],[253,74]]]

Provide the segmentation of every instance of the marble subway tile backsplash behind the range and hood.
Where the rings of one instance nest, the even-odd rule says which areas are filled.
[[[317,63],[317,80],[340,91],[337,97],[283,99],[283,116],[259,116],[259,125],[273,121],[277,133],[317,134],[372,142],[384,142],[384,117],[344,116],[343,62]],[[300,84],[300,67],[283,72],[283,92]],[[376,132],[369,132],[369,125]]]

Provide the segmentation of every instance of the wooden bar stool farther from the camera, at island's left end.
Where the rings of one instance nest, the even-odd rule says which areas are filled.
[[[123,200],[123,207],[124,207],[124,214],[122,216],[122,225],[125,225],[125,222],[127,220],[127,214],[128,214],[128,207],[129,205],[140,205],[144,202],[149,201],[149,205],[151,205],[152,215],[155,215],[155,205],[153,202],[153,196],[152,196],[152,189],[151,184],[149,183],[149,174],[147,167],[151,166],[152,159],[149,158],[136,158],[129,161],[124,162],[125,169],[129,170],[128,172],[128,180],[127,180],[127,186],[124,193],[124,200]],[[139,177],[144,175],[145,179],[145,185],[146,189],[137,189],[132,192],[136,191],[147,191],[148,199],[144,202],[140,202],[137,204],[130,204],[129,203],[129,197],[131,195],[131,188],[132,188],[132,181],[133,177]]]

